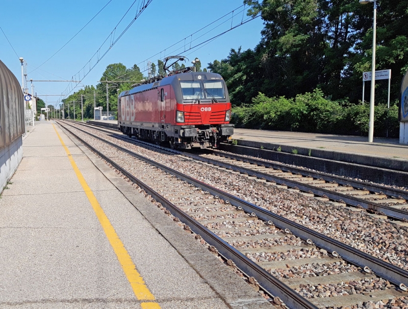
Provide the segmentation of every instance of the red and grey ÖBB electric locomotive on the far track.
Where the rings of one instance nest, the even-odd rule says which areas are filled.
[[[123,91],[118,100],[118,126],[124,134],[168,142],[171,148],[218,147],[234,133],[230,117],[221,75],[192,68]]]

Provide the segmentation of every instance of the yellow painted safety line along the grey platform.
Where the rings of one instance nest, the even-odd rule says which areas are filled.
[[[54,124],[53,127],[55,132],[57,133],[58,138],[60,139],[62,146],[65,149],[65,152],[68,155],[72,168],[75,171],[75,174],[77,175],[78,180],[81,183],[82,188],[84,189],[85,194],[87,195],[88,200],[91,203],[97,218],[99,219],[100,225],[104,229],[105,234],[108,237],[108,240],[111,243],[113,250],[115,251],[119,263],[123,268],[123,272],[125,273],[127,280],[129,280],[129,283],[132,286],[136,298],[139,300],[155,300],[155,296],[153,296],[153,294],[150,293],[149,289],[146,287],[143,281],[142,276],[136,270],[136,266],[133,263],[131,256],[125,249],[122,241],[119,239],[119,236],[116,234],[115,229],[113,228],[111,222],[106,216],[104,210],[100,207],[99,202],[96,200],[96,197],[93,194],[91,188],[85,181],[84,176],[82,176],[81,171],[79,170],[77,164],[73,160],[71,153],[68,150],[68,147],[66,147],[64,141],[62,141],[62,138]],[[143,309],[160,309],[160,305],[157,302],[142,302],[141,307]]]

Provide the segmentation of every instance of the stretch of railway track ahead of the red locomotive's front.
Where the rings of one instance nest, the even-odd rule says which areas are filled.
[[[321,200],[336,202],[342,206],[352,206],[355,207],[354,210],[366,209],[372,213],[408,222],[408,191],[406,190],[221,151],[214,151],[212,154],[179,153],[265,179],[303,194],[316,196]],[[408,173],[406,177],[408,178]]]

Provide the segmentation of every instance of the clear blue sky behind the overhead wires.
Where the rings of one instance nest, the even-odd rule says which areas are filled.
[[[239,12],[242,11],[243,8],[241,8],[234,12],[232,21],[229,19],[232,17],[230,14],[190,37],[202,27],[241,6],[243,1],[153,0],[105,57],[88,73],[90,68],[89,64],[87,65],[88,61],[108,38],[134,1],[112,0],[61,51],[36,69],[80,31],[109,0],[71,0],[69,2],[3,0],[0,5],[0,26],[15,52],[3,32],[0,31],[0,60],[15,74],[20,83],[21,64],[18,58],[23,57],[28,64],[28,80],[30,78],[33,80],[70,80],[73,77],[77,80],[82,79],[83,85],[96,85],[107,65],[112,63],[122,63],[128,68],[138,64],[143,71],[146,66],[146,62],[143,63],[143,61],[147,59],[157,63],[158,59],[163,59],[167,55],[183,54],[190,61],[198,57],[203,68],[209,62],[225,59],[231,48],[237,49],[242,46],[243,50],[252,49],[261,40],[260,32],[263,29],[263,22],[261,18],[257,18],[206,45],[201,45],[200,48],[184,52],[184,46],[186,48],[195,46],[230,29],[231,25],[239,24],[242,19],[248,18],[246,12],[244,14]],[[117,39],[135,17],[139,10],[139,3],[143,1],[137,0],[118,25],[113,40]],[[216,29],[210,31],[217,25],[219,26]],[[205,34],[208,31],[210,32]],[[186,39],[186,44],[183,41],[181,44],[168,48],[186,37],[189,37]],[[109,38],[107,43],[100,48],[100,55],[109,49],[111,39]],[[160,54],[164,49],[166,52]],[[159,55],[154,56],[157,53]],[[96,63],[96,59],[97,57],[92,58],[92,66]],[[189,64],[186,63],[186,65]],[[74,76],[80,70],[82,70],[81,77]],[[88,75],[83,78],[85,73]],[[31,92],[30,82],[28,85],[29,92]],[[67,82],[34,82],[34,85],[34,92],[51,105],[57,104],[59,97],[42,95],[60,95],[68,87]]]

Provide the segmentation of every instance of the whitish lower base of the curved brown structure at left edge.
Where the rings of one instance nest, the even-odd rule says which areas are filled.
[[[22,159],[22,137],[0,149],[0,193],[17,170]]]

